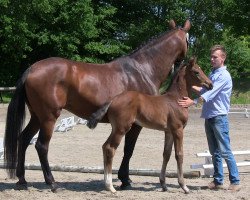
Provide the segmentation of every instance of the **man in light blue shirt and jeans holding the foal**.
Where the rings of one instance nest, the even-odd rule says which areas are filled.
[[[212,155],[214,166],[214,180],[208,185],[209,189],[223,189],[223,163],[225,159],[229,171],[230,186],[228,190],[239,191],[239,172],[230,146],[228,111],[232,92],[232,79],[227,71],[224,61],[226,52],[223,46],[215,45],[210,50],[212,72],[209,78],[213,82],[213,89],[193,87],[200,94],[197,99],[183,97],[179,105],[189,107],[203,102],[201,117],[205,119],[205,132],[209,151]]]

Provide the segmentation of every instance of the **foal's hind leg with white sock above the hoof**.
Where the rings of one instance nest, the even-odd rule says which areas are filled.
[[[105,188],[112,193],[116,190],[112,183],[112,163],[115,151],[119,146],[124,133],[118,131],[112,131],[107,141],[103,144],[103,160],[104,160],[104,182]]]

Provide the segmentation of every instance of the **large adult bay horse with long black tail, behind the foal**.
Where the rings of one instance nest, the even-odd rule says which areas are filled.
[[[26,189],[25,154],[32,137],[39,131],[35,145],[45,182],[55,191],[57,184],[48,162],[49,142],[62,109],[87,119],[105,102],[126,90],[159,94],[172,65],[182,60],[188,49],[189,20],[148,42],[130,55],[105,64],[48,58],[34,63],[18,80],[7,111],[4,137],[4,163],[10,178],[18,177],[17,188]],[[25,104],[30,120],[23,129]],[[108,122],[103,119],[103,122]],[[129,185],[129,159],[141,130],[131,128],[125,141],[124,158],[119,171],[122,185]]]

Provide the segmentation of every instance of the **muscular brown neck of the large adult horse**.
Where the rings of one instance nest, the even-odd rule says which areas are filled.
[[[147,45],[130,56],[139,63],[138,67],[141,67],[142,71],[149,72],[147,74],[151,76],[150,79],[158,87],[166,80],[173,64],[182,53],[179,42],[171,41],[176,40],[173,38],[175,36],[172,35],[173,33],[170,36],[165,36],[167,38],[162,38],[161,43],[155,42],[152,45]]]

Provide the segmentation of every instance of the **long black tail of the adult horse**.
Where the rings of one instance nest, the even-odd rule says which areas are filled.
[[[17,164],[18,136],[25,120],[26,93],[24,82],[29,70],[26,70],[18,80],[16,90],[7,111],[4,136],[4,166],[10,178],[15,178]]]

